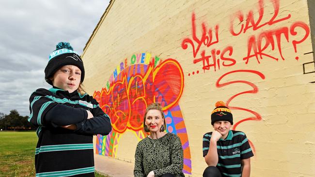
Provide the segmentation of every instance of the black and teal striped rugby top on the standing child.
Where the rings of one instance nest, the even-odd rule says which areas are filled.
[[[87,119],[89,110],[94,118]],[[37,127],[36,177],[94,177],[93,134],[111,131],[110,118],[88,94],[39,88],[30,97]],[[60,126],[76,124],[77,130]]]

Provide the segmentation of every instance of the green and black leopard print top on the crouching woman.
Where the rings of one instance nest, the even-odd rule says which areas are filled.
[[[183,170],[183,148],[179,137],[167,133],[158,139],[146,137],[136,149],[135,177],[146,177],[154,171],[155,177],[172,173],[176,177],[185,177]]]

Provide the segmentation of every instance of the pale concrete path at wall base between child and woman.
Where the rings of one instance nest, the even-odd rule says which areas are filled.
[[[110,177],[133,177],[134,163],[94,154],[95,170]]]

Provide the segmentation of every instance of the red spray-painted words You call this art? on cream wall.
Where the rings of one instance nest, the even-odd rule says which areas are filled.
[[[246,33],[246,31],[252,29],[253,31],[261,29],[268,26],[268,30],[259,32],[248,37],[247,41],[247,56],[242,57],[241,59],[245,60],[245,64],[248,64],[249,60],[255,58],[258,63],[261,62],[263,57],[278,61],[279,58],[285,60],[285,55],[283,53],[283,43],[287,43],[293,40],[292,36],[298,36],[302,33],[304,36],[300,40],[293,40],[293,48],[295,53],[297,53],[297,45],[302,43],[307,39],[310,34],[310,29],[307,24],[304,22],[298,21],[294,22],[290,27],[278,27],[277,29],[272,29],[271,26],[279,22],[286,21],[291,18],[291,14],[286,15],[283,18],[279,17],[280,10],[280,0],[269,0],[272,3],[273,15],[268,17],[270,13],[266,13],[265,0],[258,0],[257,12],[259,17],[254,18],[255,12],[250,10],[247,12],[246,17],[242,11],[237,11],[235,14],[231,15],[230,28],[229,31],[232,34],[232,37],[238,36],[241,33]],[[246,21],[243,22],[246,18]],[[238,19],[238,20],[237,20]],[[267,19],[267,20],[265,20]],[[236,26],[236,23],[237,26]],[[228,44],[223,50],[214,48],[214,44],[219,43],[219,25],[215,25],[214,34],[211,28],[207,28],[205,22],[201,23],[201,36],[197,36],[197,25],[196,25],[196,15],[192,13],[191,15],[191,29],[192,37],[185,38],[182,41],[182,48],[184,50],[188,49],[189,45],[192,48],[193,54],[193,63],[202,63],[202,69],[210,70],[211,68],[214,71],[221,69],[221,67],[230,67],[236,64],[236,59],[233,57],[233,51],[236,50],[235,46]],[[296,30],[299,29],[299,30]],[[215,39],[213,37],[215,36]],[[246,37],[242,37],[245,38]],[[291,41],[290,41],[291,40]],[[212,47],[212,48],[209,48]],[[202,49],[201,49],[202,48]],[[207,49],[209,48],[209,49]],[[272,51],[277,51],[278,54],[271,55],[269,53],[270,49]],[[246,54],[245,54],[246,55]],[[299,59],[299,57],[295,57]],[[199,74],[200,70],[192,71],[188,74],[194,75]]]

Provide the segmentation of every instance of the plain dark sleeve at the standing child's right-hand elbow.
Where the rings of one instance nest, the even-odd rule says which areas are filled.
[[[99,107],[96,100],[92,99],[92,103],[97,105],[91,111],[94,118],[85,119],[82,122],[76,123],[76,132],[82,134],[109,134],[111,131],[110,117]]]

